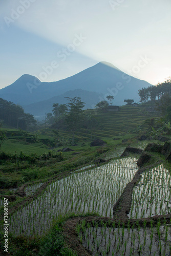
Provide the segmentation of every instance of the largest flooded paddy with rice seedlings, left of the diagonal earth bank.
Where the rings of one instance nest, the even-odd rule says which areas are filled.
[[[128,157],[56,181],[10,216],[10,231],[42,234],[58,216],[72,213],[97,212],[112,218],[113,205],[137,170],[137,159]]]

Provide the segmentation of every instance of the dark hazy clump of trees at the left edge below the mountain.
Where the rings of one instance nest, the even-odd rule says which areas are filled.
[[[20,105],[0,98],[0,120],[10,127],[30,130],[36,125],[36,119],[24,112]]]

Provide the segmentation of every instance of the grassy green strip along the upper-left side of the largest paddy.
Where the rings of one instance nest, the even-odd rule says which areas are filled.
[[[37,159],[33,164],[28,161],[14,162],[8,165],[0,165],[0,186],[1,188],[18,187],[28,181],[42,180],[53,177],[57,174],[70,175],[71,170],[89,163],[100,153],[105,152],[108,148],[103,148],[101,152],[94,147],[77,148],[80,152],[78,155],[72,155],[73,152],[65,152],[57,158]],[[82,149],[82,151],[81,151]],[[57,156],[60,153],[57,153]],[[58,159],[59,158],[59,159]]]

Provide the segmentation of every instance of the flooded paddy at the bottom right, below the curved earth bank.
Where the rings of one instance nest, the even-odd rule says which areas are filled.
[[[84,248],[92,255],[170,255],[171,227],[170,225],[143,227],[133,225],[124,227],[113,222],[111,227],[107,223],[93,224],[85,221],[77,225],[78,239]]]

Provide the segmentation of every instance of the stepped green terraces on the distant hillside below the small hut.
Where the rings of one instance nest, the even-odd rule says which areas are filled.
[[[118,112],[103,113],[97,110],[87,110],[86,113],[94,115],[102,126],[102,129],[95,129],[92,132],[93,138],[104,138],[125,135],[127,132],[135,130],[137,127],[147,127],[144,120],[152,118],[156,114],[140,112],[141,108],[133,106],[122,106]],[[63,137],[69,135],[68,132],[60,131]],[[76,132],[75,138],[90,139],[90,131],[80,129]]]

